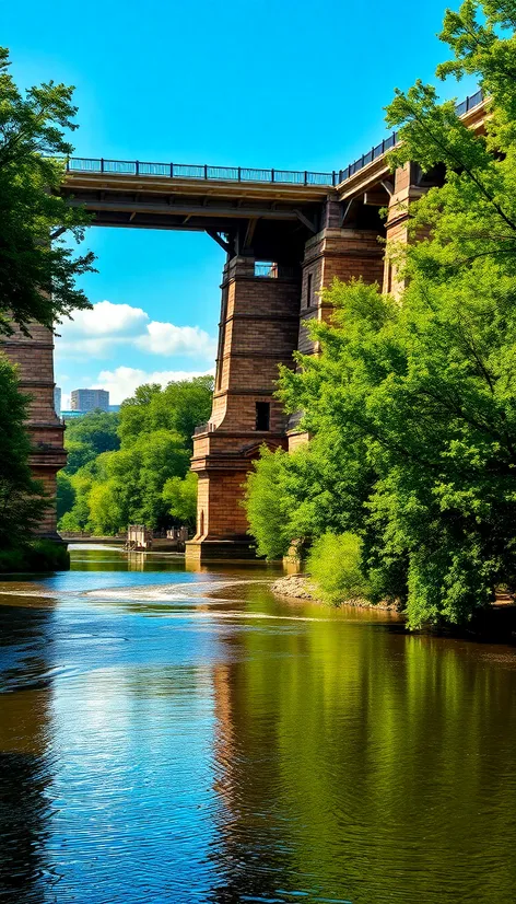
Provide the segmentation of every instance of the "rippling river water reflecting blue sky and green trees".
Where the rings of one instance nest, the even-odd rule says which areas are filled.
[[[0,584],[0,901],[516,900],[516,650],[78,548]]]

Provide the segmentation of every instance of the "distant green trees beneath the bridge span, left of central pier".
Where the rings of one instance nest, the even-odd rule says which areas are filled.
[[[119,415],[94,412],[67,427],[72,453],[59,477],[59,529],[116,534],[130,523],[195,525],[188,474],[195,427],[211,410],[211,376],[139,386]]]

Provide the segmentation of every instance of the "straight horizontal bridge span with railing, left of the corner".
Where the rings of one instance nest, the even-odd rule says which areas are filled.
[[[202,231],[232,255],[253,242],[268,258],[278,242],[289,256],[300,227],[317,229],[331,179],[324,173],[72,158],[62,192],[91,211],[96,225]]]

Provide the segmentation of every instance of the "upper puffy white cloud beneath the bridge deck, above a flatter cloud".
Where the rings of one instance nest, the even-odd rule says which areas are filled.
[[[117,347],[136,347],[150,355],[191,355],[210,361],[216,343],[199,326],[151,321],[141,308],[99,301],[64,322],[56,341],[61,358],[109,358]]]

